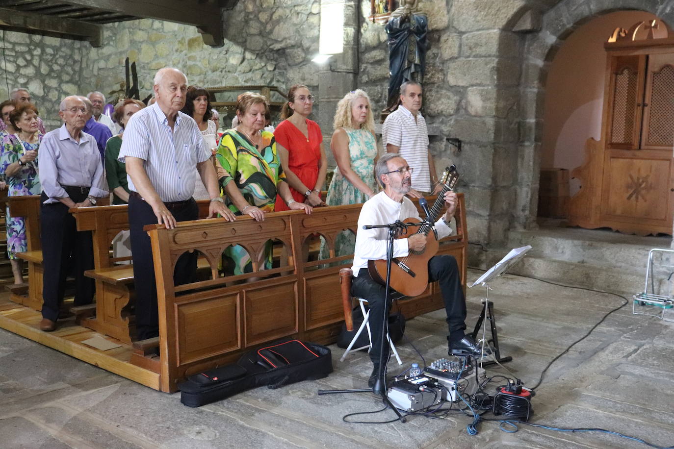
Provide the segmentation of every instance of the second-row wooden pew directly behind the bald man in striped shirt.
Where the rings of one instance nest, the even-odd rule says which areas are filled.
[[[208,216],[208,200],[197,201],[200,217]],[[113,239],[129,230],[127,205],[79,207],[71,209],[78,231],[91,231],[94,243],[94,269],[85,271],[96,279],[96,302],[76,308],[78,323],[124,343],[135,337],[134,320],[129,312],[133,304],[133,266],[116,265],[128,257],[115,258],[111,253]]]

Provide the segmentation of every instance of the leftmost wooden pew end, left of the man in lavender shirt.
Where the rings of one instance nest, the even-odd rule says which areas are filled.
[[[28,291],[11,291],[9,299],[34,310],[42,310],[42,246],[40,245],[40,195],[8,197],[9,214],[26,223],[26,252],[17,254],[28,262]]]

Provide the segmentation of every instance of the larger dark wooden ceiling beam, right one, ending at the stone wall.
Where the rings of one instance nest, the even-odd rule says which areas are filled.
[[[224,31],[221,5],[224,4],[225,8],[234,7],[237,1],[216,0],[216,2],[202,3],[199,0],[67,0],[67,3],[123,15],[134,15],[137,18],[193,25],[202,34],[205,44],[222,46]]]

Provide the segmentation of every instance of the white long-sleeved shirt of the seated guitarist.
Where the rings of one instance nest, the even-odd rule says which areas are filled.
[[[394,201],[381,191],[371,199],[365,201],[358,217],[358,231],[356,233],[356,248],[353,254],[353,275],[358,277],[358,271],[367,267],[367,261],[386,259],[386,246],[388,244],[388,229],[377,228],[364,230],[365,225],[380,225],[394,223],[396,220],[404,221],[414,217],[421,221],[419,212],[414,203],[408,197],[403,197],[402,203]],[[437,238],[441,239],[452,234],[452,228],[447,226],[440,217],[435,222]],[[393,256],[404,257],[409,254],[406,238],[398,238],[393,242]]]

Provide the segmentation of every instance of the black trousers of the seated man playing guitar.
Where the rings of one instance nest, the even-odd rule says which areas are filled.
[[[466,329],[466,298],[464,297],[461,277],[456,258],[449,255],[433,256],[428,262],[429,281],[439,281],[442,301],[447,313],[449,327],[448,341],[459,341],[464,337]],[[384,294],[386,287],[372,280],[367,268],[362,268],[351,284],[351,294],[356,298],[367,300],[370,309],[370,331],[372,333],[372,349],[370,359],[379,362],[381,344],[382,314],[384,313]],[[390,305],[390,299],[389,299]],[[384,344],[384,360],[388,359],[390,347]]]

